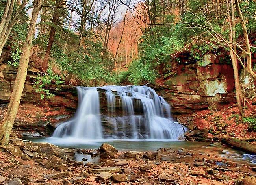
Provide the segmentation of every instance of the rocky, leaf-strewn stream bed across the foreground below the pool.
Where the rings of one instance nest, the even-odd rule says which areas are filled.
[[[91,157],[76,161],[75,154]],[[98,160],[93,162],[94,158]],[[206,146],[140,152],[102,144],[99,149],[78,150],[11,138],[0,159],[0,184],[7,185],[256,184],[253,164],[227,158]]]

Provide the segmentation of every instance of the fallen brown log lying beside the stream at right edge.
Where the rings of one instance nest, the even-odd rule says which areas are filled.
[[[236,149],[242,150],[244,152],[249,152],[251,154],[256,154],[256,145],[249,144],[245,141],[241,141],[234,137],[223,137],[221,142],[227,146],[233,146]]]

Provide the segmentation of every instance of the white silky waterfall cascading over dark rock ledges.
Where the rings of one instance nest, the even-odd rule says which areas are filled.
[[[178,139],[186,131],[184,126],[172,120],[170,105],[150,87],[77,87],[77,91],[79,104],[76,115],[59,125],[53,137]],[[104,107],[100,100],[106,98]],[[110,122],[111,131],[100,118],[104,116],[106,122]]]

